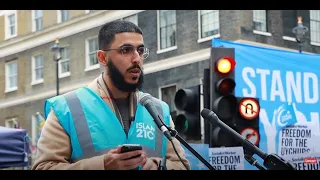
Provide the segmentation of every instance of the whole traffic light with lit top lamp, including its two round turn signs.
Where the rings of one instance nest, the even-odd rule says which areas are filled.
[[[213,110],[225,124],[259,147],[259,99],[234,95],[234,54],[233,48],[212,48],[210,68],[204,69],[204,108]],[[210,147],[241,146],[218,126],[204,122],[204,141]],[[248,151],[246,148],[244,150]]]

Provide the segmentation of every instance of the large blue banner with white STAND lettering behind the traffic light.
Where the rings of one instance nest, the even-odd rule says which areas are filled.
[[[213,39],[212,47],[221,46],[235,48],[235,95],[259,98],[259,148],[280,156],[320,152],[320,55]]]

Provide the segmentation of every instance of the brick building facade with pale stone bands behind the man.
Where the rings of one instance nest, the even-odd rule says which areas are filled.
[[[297,17],[309,28],[303,51],[320,52],[320,10],[10,10],[0,11],[0,126],[27,129],[35,144],[44,100],[56,95],[51,47],[60,39],[60,94],[100,73],[98,31],[127,19],[144,32],[143,91],[166,101],[175,116],[178,89],[202,84],[212,38],[298,51]]]

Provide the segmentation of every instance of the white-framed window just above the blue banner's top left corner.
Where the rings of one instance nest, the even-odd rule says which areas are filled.
[[[200,10],[199,39],[219,34],[219,10]]]

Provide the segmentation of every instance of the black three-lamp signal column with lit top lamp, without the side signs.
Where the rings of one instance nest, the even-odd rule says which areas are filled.
[[[234,95],[235,83],[234,48],[212,47],[210,59],[210,109],[231,128],[235,128],[238,102]],[[238,143],[215,125],[210,125],[210,147],[231,147]]]

